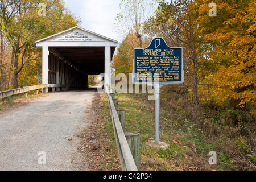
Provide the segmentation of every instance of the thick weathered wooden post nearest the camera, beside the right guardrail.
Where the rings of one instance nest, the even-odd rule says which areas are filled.
[[[140,137],[137,131],[125,132],[125,138],[130,147],[131,154],[133,155],[134,162],[137,166],[138,171],[141,170],[141,154],[140,154]]]

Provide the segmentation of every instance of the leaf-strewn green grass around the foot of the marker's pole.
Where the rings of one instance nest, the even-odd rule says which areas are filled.
[[[148,100],[147,94],[115,94],[115,97],[119,100],[119,108],[126,112],[125,130],[138,131],[140,134],[141,170],[255,170],[254,164],[247,163],[238,154],[234,144],[236,139],[227,138],[223,132],[225,129],[219,135],[213,135],[212,131],[198,128],[186,118],[182,105],[172,106],[175,108],[164,105],[164,96],[160,106],[160,141],[167,143],[168,148],[152,147],[150,142],[155,135],[155,101]],[[174,96],[177,103],[180,99],[181,97]],[[104,104],[108,139],[112,142],[112,151],[117,154],[105,94],[101,94],[101,100]],[[210,151],[216,151],[217,165],[209,164]]]

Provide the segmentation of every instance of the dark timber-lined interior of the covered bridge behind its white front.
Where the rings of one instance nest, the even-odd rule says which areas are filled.
[[[105,73],[105,47],[49,47],[48,61],[49,91],[87,88],[89,75]]]

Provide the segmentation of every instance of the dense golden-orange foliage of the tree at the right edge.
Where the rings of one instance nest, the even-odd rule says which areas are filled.
[[[208,15],[209,3],[197,1],[192,11],[210,45],[207,56],[215,65],[211,77],[215,92],[222,101],[229,100],[228,108],[245,107],[256,99],[256,2],[215,1],[215,17]]]

